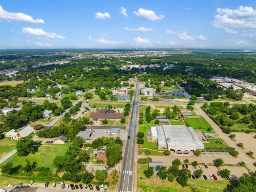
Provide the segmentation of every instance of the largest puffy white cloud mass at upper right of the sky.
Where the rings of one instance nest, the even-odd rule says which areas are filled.
[[[256,29],[256,10],[240,6],[238,9],[218,8],[212,26],[216,28]]]

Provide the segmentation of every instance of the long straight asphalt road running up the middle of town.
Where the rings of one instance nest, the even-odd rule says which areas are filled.
[[[126,146],[124,148],[118,192],[132,192],[134,183],[136,132],[138,129],[138,105],[139,105],[139,81],[136,84],[136,92],[132,102],[130,124],[127,126]]]

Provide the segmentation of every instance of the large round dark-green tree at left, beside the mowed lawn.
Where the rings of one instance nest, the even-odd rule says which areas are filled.
[[[32,136],[21,137],[17,143],[15,149],[17,150],[18,156],[27,156],[30,153],[36,152],[34,147],[35,142],[32,139]]]

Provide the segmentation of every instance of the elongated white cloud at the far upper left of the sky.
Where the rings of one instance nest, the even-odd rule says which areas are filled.
[[[26,15],[24,13],[7,12],[2,8],[1,5],[0,5],[0,20],[6,20],[7,22],[23,21],[28,23],[44,23],[44,20],[42,19],[34,20],[31,16]]]

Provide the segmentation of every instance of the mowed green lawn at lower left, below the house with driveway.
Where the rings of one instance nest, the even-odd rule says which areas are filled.
[[[30,163],[37,162],[37,167],[45,167],[54,169],[52,165],[55,156],[64,156],[68,149],[69,142],[66,144],[48,144],[38,147],[38,152],[35,154],[29,154],[26,157],[19,157],[18,154],[14,154],[6,160],[6,162],[12,162],[13,166],[26,165],[25,160],[28,159]],[[2,165],[2,164],[1,164]],[[0,166],[1,166],[0,165]]]

